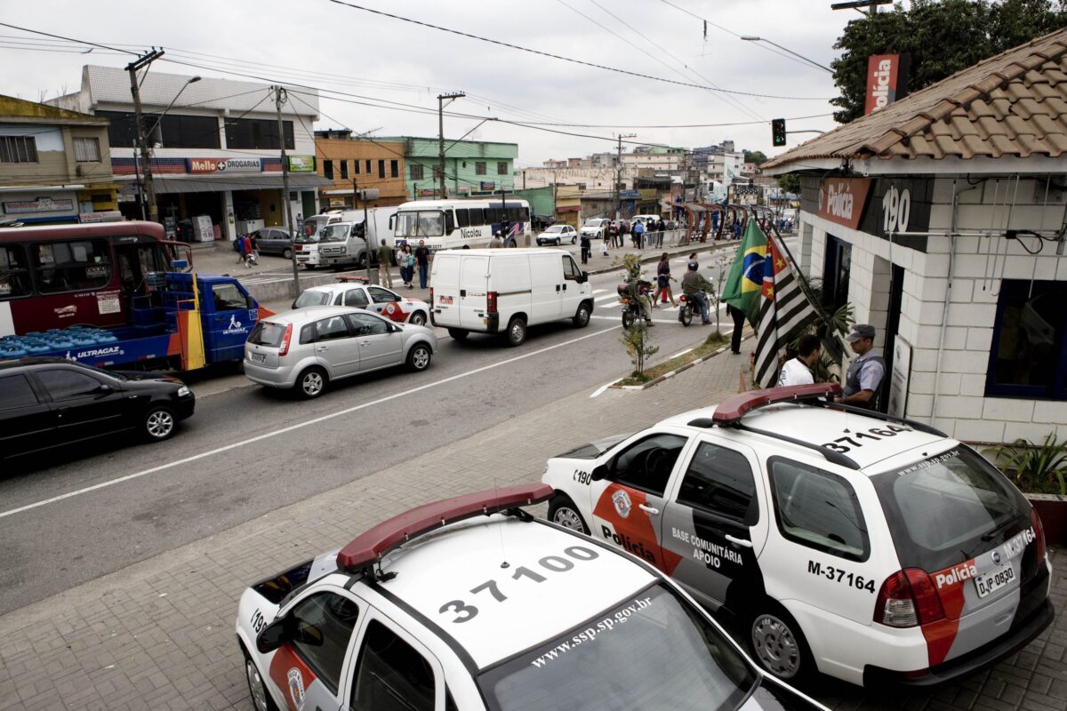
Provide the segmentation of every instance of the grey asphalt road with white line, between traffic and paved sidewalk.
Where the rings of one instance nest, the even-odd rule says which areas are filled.
[[[456,342],[439,329],[440,350],[427,371],[357,376],[310,402],[248,387],[230,372],[225,382],[239,387],[201,395],[195,415],[168,442],[112,438],[5,465],[0,614],[574,392],[595,393],[632,367],[619,341],[618,274],[591,282],[598,304],[586,328],[569,321],[534,327],[516,349],[479,335]],[[654,314],[656,360],[710,333],[683,327],[674,311]],[[220,389],[210,378],[193,388]],[[619,429],[626,430],[621,419]]]

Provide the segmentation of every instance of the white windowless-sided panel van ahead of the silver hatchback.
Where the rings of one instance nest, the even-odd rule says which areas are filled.
[[[571,319],[589,325],[593,289],[563,249],[444,249],[433,257],[430,320],[456,340],[503,334],[509,345],[526,327]]]

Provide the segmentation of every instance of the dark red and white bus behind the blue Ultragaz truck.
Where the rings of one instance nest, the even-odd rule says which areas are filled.
[[[127,325],[175,247],[149,222],[0,228],[0,336]]]

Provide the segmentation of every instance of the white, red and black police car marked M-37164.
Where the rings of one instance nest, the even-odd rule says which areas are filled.
[[[782,679],[934,686],[1052,620],[1041,522],[971,448],[821,398],[743,393],[548,460],[548,517],[663,570]]]

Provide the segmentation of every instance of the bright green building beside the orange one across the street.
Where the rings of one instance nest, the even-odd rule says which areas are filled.
[[[404,188],[408,199],[441,197],[436,179],[441,162],[437,139],[400,136],[378,139],[404,144]],[[481,197],[511,192],[512,174],[519,156],[516,143],[455,141],[445,139],[446,197]]]

